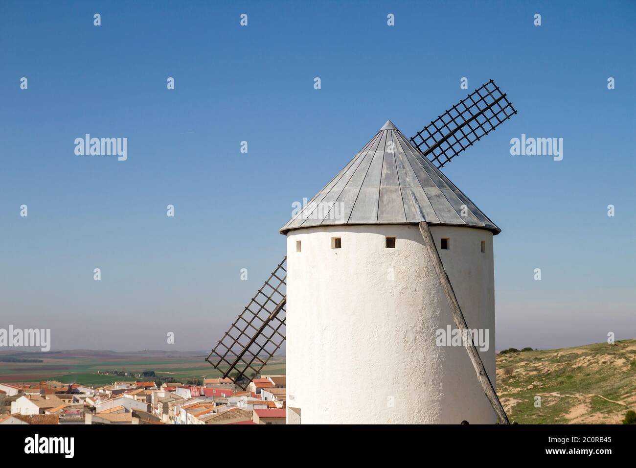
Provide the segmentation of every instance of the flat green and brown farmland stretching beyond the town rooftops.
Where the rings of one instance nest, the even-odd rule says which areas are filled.
[[[134,377],[99,374],[117,371],[138,374],[154,371],[156,378],[172,377],[176,381],[218,377],[220,372],[205,362],[207,353],[178,351],[114,351],[71,350],[48,353],[4,351],[0,357],[38,359],[43,362],[0,362],[0,382],[34,382],[59,380],[63,383],[107,385],[114,381],[135,380]],[[284,357],[272,358],[263,373],[284,374]]]

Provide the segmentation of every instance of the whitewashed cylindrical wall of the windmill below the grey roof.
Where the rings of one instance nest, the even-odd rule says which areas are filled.
[[[494,381],[492,233],[431,231],[468,326],[489,330],[481,358]],[[396,248],[385,248],[385,236]],[[342,248],[331,248],[332,237]],[[442,237],[449,250],[440,250]],[[302,423],[495,423],[466,350],[436,346],[448,324],[455,328],[417,225],[287,235],[287,406],[300,408]]]

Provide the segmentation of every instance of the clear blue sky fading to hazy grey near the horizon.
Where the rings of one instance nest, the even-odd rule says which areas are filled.
[[[635,24],[629,1],[3,1],[0,327],[211,348],[282,259],[291,204],[467,77],[519,111],[444,169],[502,228],[497,348],[636,337]],[[86,133],[128,138],[128,160],[76,156]],[[522,133],[563,138],[563,160],[511,156]]]

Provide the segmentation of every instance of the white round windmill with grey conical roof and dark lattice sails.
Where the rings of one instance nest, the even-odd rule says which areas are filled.
[[[245,389],[287,338],[288,423],[508,423],[494,339],[434,342],[494,331],[501,229],[439,169],[514,114],[490,80],[410,139],[387,120],[280,229],[286,257],[206,360]],[[386,379],[382,404],[333,396],[365,379]]]

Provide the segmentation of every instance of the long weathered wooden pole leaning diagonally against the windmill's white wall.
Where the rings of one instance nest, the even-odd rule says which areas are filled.
[[[439,282],[441,283],[441,288],[446,295],[446,300],[448,301],[448,305],[450,306],[450,311],[453,314],[455,327],[462,331],[468,330],[466,319],[464,319],[462,309],[459,307],[459,302],[457,302],[457,297],[455,296],[453,285],[448,279],[448,274],[446,274],[444,264],[441,262],[441,258],[439,258],[439,252],[437,250],[437,247],[435,246],[435,241],[433,240],[431,229],[429,229],[429,224],[427,222],[422,221],[420,223],[420,232],[422,233],[422,238],[424,238],[424,245],[426,246],[426,250],[429,252],[429,257],[431,258],[432,264],[438,275]],[[490,378],[488,378],[486,369],[483,367],[483,362],[481,362],[479,351],[473,343],[473,337],[469,333],[466,333],[466,337],[467,339],[464,340],[464,346],[466,346],[468,356],[471,358],[471,362],[473,363],[473,367],[475,369],[475,372],[477,373],[477,379],[481,383],[483,392],[486,394],[486,397],[488,398],[488,401],[490,401],[490,404],[495,410],[495,413],[497,413],[497,419],[499,419],[499,423],[509,424],[510,422],[508,421],[508,416],[506,416],[506,411],[504,411],[504,407],[501,406],[501,402],[499,401],[499,398],[497,398],[495,387],[492,385]]]

